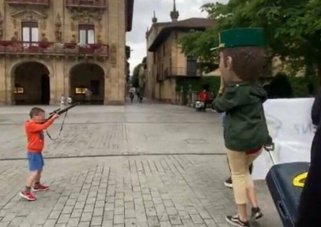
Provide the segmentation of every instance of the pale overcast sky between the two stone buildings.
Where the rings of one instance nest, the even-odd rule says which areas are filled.
[[[227,2],[228,0],[217,0]],[[158,22],[171,21],[170,11],[173,9],[173,0],[134,0],[134,18],[131,32],[127,32],[127,45],[132,49],[131,59],[129,59],[131,73],[134,67],[146,56],[145,32],[147,26],[152,26],[153,11],[156,11]],[[200,7],[204,3],[213,2],[210,0],[176,0],[176,9],[179,18],[207,17],[205,12],[201,12]]]

